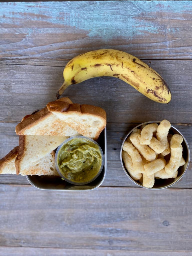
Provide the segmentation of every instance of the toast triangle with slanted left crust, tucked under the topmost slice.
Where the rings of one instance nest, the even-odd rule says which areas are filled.
[[[65,97],[57,101],[72,101]],[[17,124],[15,128],[17,135],[55,135],[55,136],[76,136],[79,133],[69,125],[59,119],[56,115],[48,111],[47,108],[41,109],[33,115],[27,115]]]

